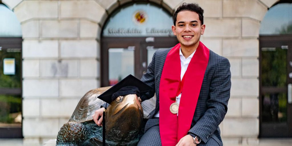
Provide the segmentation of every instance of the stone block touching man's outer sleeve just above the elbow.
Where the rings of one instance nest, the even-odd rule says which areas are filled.
[[[258,96],[258,79],[231,79],[231,96]]]

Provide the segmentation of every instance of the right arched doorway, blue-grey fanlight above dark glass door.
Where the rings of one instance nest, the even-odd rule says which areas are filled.
[[[287,1],[284,1],[287,2]],[[292,137],[292,4],[278,2],[260,27],[260,137]]]

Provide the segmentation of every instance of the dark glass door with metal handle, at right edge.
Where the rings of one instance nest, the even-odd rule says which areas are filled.
[[[292,39],[260,37],[260,137],[292,137]]]

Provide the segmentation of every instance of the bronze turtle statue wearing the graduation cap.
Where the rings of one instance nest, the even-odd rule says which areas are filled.
[[[101,146],[102,126],[93,121],[92,115],[105,102],[97,98],[110,87],[88,91],[79,101],[69,121],[57,136],[56,146]],[[107,145],[137,145],[141,136],[143,109],[136,94],[119,96],[105,112]]]

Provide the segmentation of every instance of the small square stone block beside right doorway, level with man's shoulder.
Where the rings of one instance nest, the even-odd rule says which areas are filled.
[[[258,59],[242,59],[242,76],[259,76]]]

